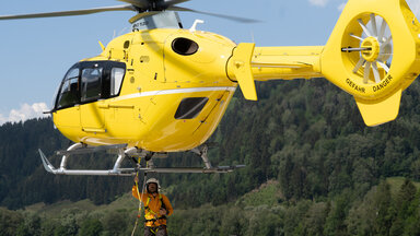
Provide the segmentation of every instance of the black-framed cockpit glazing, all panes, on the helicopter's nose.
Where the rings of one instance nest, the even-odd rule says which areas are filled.
[[[118,96],[126,64],[116,61],[83,61],[66,73],[55,110]]]

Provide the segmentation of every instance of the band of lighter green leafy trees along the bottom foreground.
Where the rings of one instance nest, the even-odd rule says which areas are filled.
[[[342,198],[349,199],[345,196],[325,201],[279,202],[280,186],[270,180],[234,203],[177,209],[170,217],[168,229],[171,235],[418,235],[420,191],[416,197],[410,186],[420,189],[420,182],[388,178],[372,187],[361,200],[345,206]],[[402,199],[406,204],[399,202]],[[348,209],[346,219],[337,217],[345,210],[340,205]],[[37,203],[18,212],[0,209],[0,228],[3,235],[14,227],[19,228],[18,235],[130,235],[137,206],[138,201],[126,193],[104,205],[82,200]],[[385,227],[389,223],[376,215],[375,211],[381,210],[389,214],[388,229]],[[18,220],[5,224],[4,219],[11,215]]]

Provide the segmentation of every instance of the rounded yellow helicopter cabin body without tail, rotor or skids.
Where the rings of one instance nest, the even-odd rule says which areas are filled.
[[[226,72],[234,47],[207,32],[122,35],[69,70],[54,122],[73,142],[190,150],[215,130],[236,90]]]

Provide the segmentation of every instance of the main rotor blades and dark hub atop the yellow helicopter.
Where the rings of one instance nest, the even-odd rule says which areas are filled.
[[[242,23],[253,23],[257,22],[250,19],[236,17],[231,15],[215,14],[196,11],[192,9],[180,8],[176,4],[187,2],[189,0],[118,0],[129,4],[126,5],[115,5],[115,7],[103,7],[94,9],[82,9],[82,10],[72,10],[72,11],[59,11],[59,12],[46,12],[46,13],[34,13],[34,14],[18,14],[18,15],[0,15],[0,20],[16,20],[16,19],[37,19],[37,17],[56,17],[56,16],[71,16],[71,15],[85,15],[108,11],[135,11],[138,14],[129,20],[130,23],[133,23],[142,17],[152,16],[159,14],[163,11],[186,11],[194,12],[199,14],[208,14],[217,17],[222,17],[231,21],[242,22]]]

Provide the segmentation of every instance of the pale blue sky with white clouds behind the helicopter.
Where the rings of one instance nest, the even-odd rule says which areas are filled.
[[[191,0],[180,7],[259,20],[243,24],[195,13],[180,13],[184,27],[257,46],[325,45],[346,0]],[[409,0],[416,13],[420,0]],[[120,5],[116,0],[0,1],[0,15]],[[0,125],[43,116],[51,108],[67,70],[101,54],[113,37],[128,33],[133,12],[104,12],[67,17],[0,21]]]

